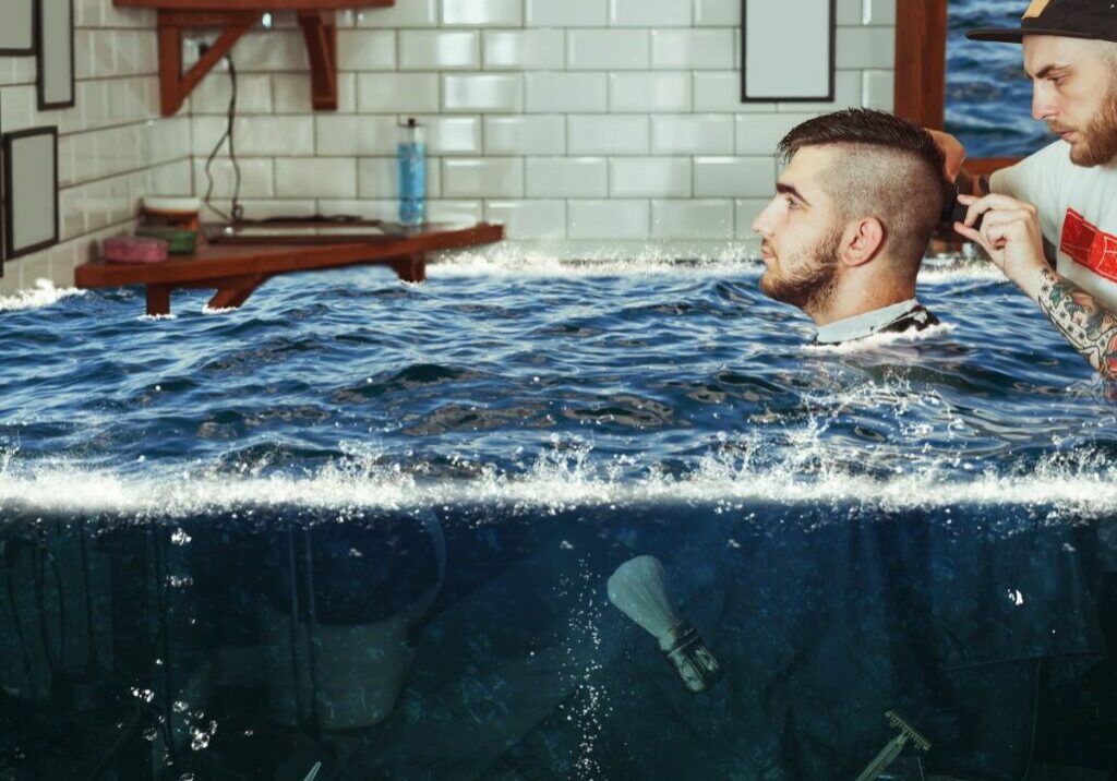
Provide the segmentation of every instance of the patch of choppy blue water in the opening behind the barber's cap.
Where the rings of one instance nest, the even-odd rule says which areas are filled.
[[[1054,141],[1031,116],[1032,85],[1016,44],[967,40],[966,30],[1019,27],[1025,2],[949,0],[946,130],[971,158],[1027,156]]]

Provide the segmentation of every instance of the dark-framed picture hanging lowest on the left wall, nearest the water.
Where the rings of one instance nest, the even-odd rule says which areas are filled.
[[[58,128],[3,135],[4,256],[58,244]]]

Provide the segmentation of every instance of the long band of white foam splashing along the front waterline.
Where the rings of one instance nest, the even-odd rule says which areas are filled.
[[[804,434],[809,453],[810,434]],[[761,467],[757,451],[710,455],[696,472],[676,478],[649,468],[622,476],[630,464],[593,465],[588,453],[541,458],[526,474],[495,468],[472,479],[427,482],[394,466],[343,463],[306,477],[207,474],[122,476],[64,464],[30,470],[0,461],[0,508],[41,512],[112,512],[175,517],[245,507],[312,511],[408,509],[430,506],[491,506],[551,514],[579,507],[703,504],[719,507],[754,502],[849,504],[882,509],[960,505],[1054,505],[1087,517],[1117,512],[1117,469],[1104,456],[1053,457],[1025,474],[992,473],[960,479],[958,469],[920,466],[886,479],[850,474],[805,455]]]

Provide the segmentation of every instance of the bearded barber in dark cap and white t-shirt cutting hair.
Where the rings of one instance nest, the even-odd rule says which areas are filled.
[[[1117,8],[1033,0],[1019,28],[966,37],[1023,44],[1032,116],[1060,141],[974,180],[962,170],[957,140],[936,133],[947,175],[973,193],[958,197],[968,210],[954,229],[981,245],[1090,365],[1117,380]]]

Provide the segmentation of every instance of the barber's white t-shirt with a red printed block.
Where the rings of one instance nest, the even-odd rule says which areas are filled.
[[[1062,276],[1117,311],[1117,164],[1082,168],[1057,141],[990,180],[993,192],[1033,203]]]

